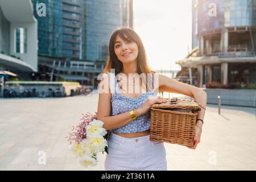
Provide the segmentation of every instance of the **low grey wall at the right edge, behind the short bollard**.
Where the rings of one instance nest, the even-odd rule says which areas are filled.
[[[255,107],[256,90],[245,89],[205,89],[207,92],[207,104],[218,104],[218,96],[221,96],[222,105]]]

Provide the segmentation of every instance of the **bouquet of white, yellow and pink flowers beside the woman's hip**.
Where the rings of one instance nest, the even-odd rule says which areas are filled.
[[[96,166],[97,153],[108,153],[108,131],[103,122],[97,120],[97,113],[82,114],[81,122],[69,133],[69,148],[75,154],[82,166]]]

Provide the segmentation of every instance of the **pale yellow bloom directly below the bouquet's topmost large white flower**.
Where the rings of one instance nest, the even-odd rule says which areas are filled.
[[[89,145],[92,146],[93,152],[98,153],[105,150],[105,147],[107,146],[108,142],[104,137],[101,135],[96,135],[94,137],[88,138]]]

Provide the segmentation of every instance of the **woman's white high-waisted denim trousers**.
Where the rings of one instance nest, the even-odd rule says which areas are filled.
[[[166,171],[166,149],[163,142],[150,141],[150,135],[125,138],[110,133],[105,170]]]

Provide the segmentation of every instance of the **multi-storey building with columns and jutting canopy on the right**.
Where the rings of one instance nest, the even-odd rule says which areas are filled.
[[[193,55],[176,63],[197,68],[199,86],[209,82],[255,83],[255,7],[254,0],[193,1],[195,49]]]

